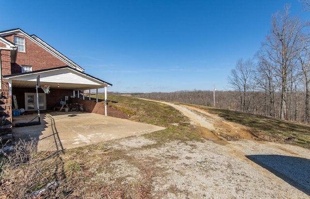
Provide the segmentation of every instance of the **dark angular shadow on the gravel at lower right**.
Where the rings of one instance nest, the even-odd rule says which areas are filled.
[[[310,195],[310,160],[285,155],[246,155],[282,180]]]

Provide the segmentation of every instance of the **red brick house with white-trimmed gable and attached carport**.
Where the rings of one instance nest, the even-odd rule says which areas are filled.
[[[12,96],[16,96],[18,108],[35,111],[36,84],[40,77],[40,85],[50,85],[50,93],[41,88],[39,92],[39,109],[53,110],[56,104],[69,96],[69,102],[82,100],[75,98],[80,91],[91,91],[112,86],[96,77],[90,76],[75,62],[71,61],[36,35],[29,35],[21,29],[0,31],[0,91],[1,113],[12,122]],[[70,97],[71,96],[71,97]],[[106,96],[105,96],[106,97]],[[84,100],[83,96],[83,100]],[[89,98],[90,100],[90,98]],[[98,101],[98,97],[97,97]],[[92,111],[83,102],[86,111]],[[14,104],[14,103],[13,103]]]

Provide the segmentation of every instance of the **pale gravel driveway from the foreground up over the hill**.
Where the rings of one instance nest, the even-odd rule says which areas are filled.
[[[150,175],[150,195],[155,199],[310,198],[310,150],[257,141],[240,125],[201,110],[165,104],[180,110],[197,127],[214,130],[213,134],[202,141],[172,141],[155,148],[143,147],[155,141],[142,136],[111,142],[111,148],[128,150],[128,156],[140,159],[141,167],[116,160],[110,172],[98,176],[101,180],[112,184],[123,177],[126,184]],[[225,125],[218,129],[218,122]],[[214,135],[227,127],[240,129],[240,139],[227,141]]]

